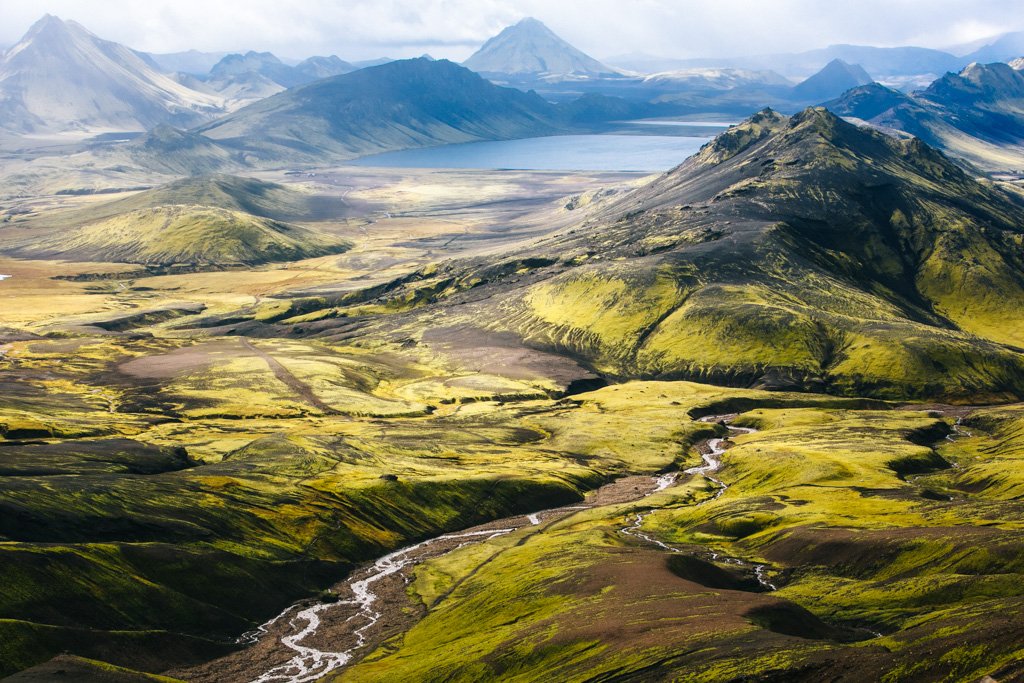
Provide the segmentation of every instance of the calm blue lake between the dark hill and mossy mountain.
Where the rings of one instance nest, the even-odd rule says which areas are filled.
[[[656,172],[678,166],[710,139],[675,135],[557,135],[388,152],[350,163],[390,168]]]

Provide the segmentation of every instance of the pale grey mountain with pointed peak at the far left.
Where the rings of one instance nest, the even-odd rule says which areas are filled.
[[[49,14],[0,57],[0,127],[17,133],[191,126],[222,111],[220,98]]]

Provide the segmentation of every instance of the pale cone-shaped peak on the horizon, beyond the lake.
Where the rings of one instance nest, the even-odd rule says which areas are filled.
[[[614,76],[538,19],[527,17],[489,39],[463,66],[480,74],[512,76]]]

